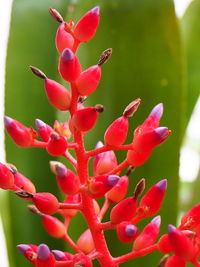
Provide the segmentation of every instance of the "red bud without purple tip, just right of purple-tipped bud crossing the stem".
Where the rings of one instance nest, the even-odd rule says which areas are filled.
[[[128,190],[128,177],[122,176],[118,183],[106,194],[106,197],[113,203],[120,202]]]

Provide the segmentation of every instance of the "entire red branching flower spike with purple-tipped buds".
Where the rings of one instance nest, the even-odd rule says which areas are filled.
[[[102,66],[110,58],[112,49],[105,50],[96,65],[82,71],[76,51],[82,42],[89,41],[95,35],[100,20],[99,7],[88,11],[77,24],[73,21],[65,22],[55,9],[50,9],[50,14],[59,23],[56,35],[56,47],[60,54],[59,73],[70,83],[71,92],[38,68],[31,66],[30,69],[44,80],[51,105],[58,110],[69,111],[70,118],[64,123],[55,121],[53,126],[36,119],[35,131],[15,119],[5,117],[5,127],[18,146],[42,147],[50,155],[63,156],[71,163],[73,171],[61,162],[50,162],[58,187],[66,197],[64,201],[59,201],[51,193],[36,192],[34,184],[9,163],[0,163],[0,187],[15,191],[20,198],[31,201],[32,205],[28,205],[28,208],[41,217],[48,234],[64,239],[73,248],[74,254],[51,251],[46,244],[20,244],[18,250],[37,267],[89,267],[93,266],[94,259],[101,266],[114,267],[153,251],[167,254],[161,260],[160,267],[182,267],[187,262],[200,266],[199,204],[182,217],[179,227],[169,225],[168,233],[158,238],[160,216],[151,218],[143,229],[139,229],[137,224],[158,213],[166,193],[167,180],[158,181],[143,194],[145,179],[141,179],[132,196],[126,197],[129,176],[135,167],[145,163],[152,150],[171,133],[167,127],[160,127],[162,103],[156,105],[146,120],[135,129],[130,144],[124,142],[129,130],[129,118],[140,105],[139,98],[133,100],[124,109],[122,116],[106,129],[104,143],[98,142],[95,149],[86,150],[84,136],[95,126],[104,107],[100,104],[85,107],[85,100],[98,87]],[[74,150],[75,157],[70,150]],[[127,151],[120,164],[117,163],[116,150]],[[92,175],[88,171],[90,160],[93,160]],[[126,172],[121,175],[124,169]],[[102,197],[105,201],[100,208],[96,199]],[[111,205],[110,221],[102,222]],[[68,226],[78,212],[85,218],[88,229],[75,242],[69,236]],[[56,213],[63,216],[63,221],[52,216]],[[131,252],[118,257],[110,254],[104,236],[104,232],[110,229],[116,231],[121,242],[133,243]]]

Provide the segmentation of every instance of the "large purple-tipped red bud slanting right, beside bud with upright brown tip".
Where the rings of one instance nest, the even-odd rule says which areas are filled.
[[[167,180],[161,180],[152,186],[140,201],[138,216],[141,218],[154,216],[162,205],[166,190]]]

